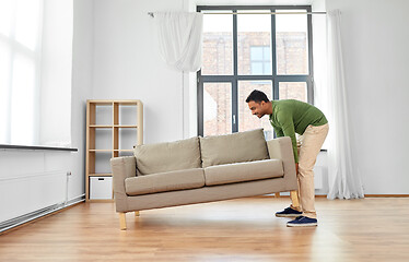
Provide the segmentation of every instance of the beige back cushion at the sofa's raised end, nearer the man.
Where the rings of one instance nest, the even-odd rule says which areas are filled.
[[[262,129],[200,138],[202,167],[268,159]]]

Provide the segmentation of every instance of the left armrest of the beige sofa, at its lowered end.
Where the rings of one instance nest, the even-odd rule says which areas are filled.
[[[127,210],[127,193],[125,179],[137,175],[137,159],[135,156],[110,158],[113,169],[114,196],[117,212]]]

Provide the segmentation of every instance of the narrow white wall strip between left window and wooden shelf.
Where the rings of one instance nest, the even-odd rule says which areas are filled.
[[[93,85],[93,10],[92,0],[74,0],[71,143],[78,153],[71,157],[70,198],[85,193],[85,114],[86,99],[92,98]]]

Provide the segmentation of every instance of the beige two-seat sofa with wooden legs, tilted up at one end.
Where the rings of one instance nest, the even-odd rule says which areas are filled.
[[[282,191],[299,203],[291,139],[266,142],[262,129],[138,145],[110,165],[121,229],[133,211]]]

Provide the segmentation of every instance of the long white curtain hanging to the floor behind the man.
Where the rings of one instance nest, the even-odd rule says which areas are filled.
[[[351,154],[350,122],[342,62],[340,11],[327,12],[328,199],[363,198],[359,170]]]

